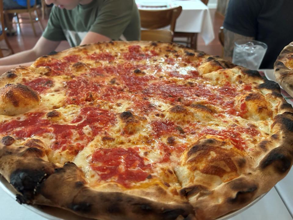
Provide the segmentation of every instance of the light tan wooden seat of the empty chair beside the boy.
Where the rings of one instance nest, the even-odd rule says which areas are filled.
[[[142,41],[161,41],[171,42],[173,40],[173,31],[170,30],[142,30]]]

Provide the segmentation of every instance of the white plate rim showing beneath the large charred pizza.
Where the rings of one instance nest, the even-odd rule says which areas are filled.
[[[16,198],[16,191],[13,189],[13,187],[5,180],[4,177],[2,177],[2,175],[0,175],[0,187],[9,195],[11,196],[14,200]],[[224,215],[220,218],[217,218],[216,220],[226,220],[229,218],[232,218],[235,215],[238,215],[239,213],[243,212],[244,210],[248,209],[249,207],[251,207],[253,204],[255,204],[256,202],[258,202],[263,196],[265,196],[265,194],[257,197],[254,201],[252,201],[250,204],[248,204],[247,206],[231,212],[227,215]],[[74,213],[64,210],[64,209],[60,209],[60,208],[56,208],[56,207],[50,207],[50,206],[40,206],[40,205],[26,205],[23,204],[24,207],[26,207],[27,209],[33,211],[34,213],[49,219],[49,220],[94,220],[92,218],[83,218],[81,216],[75,215]]]

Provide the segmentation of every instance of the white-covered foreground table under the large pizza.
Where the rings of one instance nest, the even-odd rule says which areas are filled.
[[[261,75],[265,77],[263,73]],[[283,96],[287,96],[284,90],[281,93]],[[292,97],[286,97],[286,100],[293,106]],[[293,168],[261,200],[230,220],[293,220],[292,183]],[[24,205],[18,204],[2,189],[0,189],[0,207],[0,219],[3,220],[45,220],[42,216],[28,210]]]

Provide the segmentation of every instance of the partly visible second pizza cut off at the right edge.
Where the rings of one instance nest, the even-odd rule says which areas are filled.
[[[293,42],[285,46],[274,63],[277,82],[293,97]]]

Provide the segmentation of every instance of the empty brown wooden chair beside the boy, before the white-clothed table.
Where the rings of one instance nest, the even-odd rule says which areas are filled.
[[[179,17],[182,7],[178,6],[163,10],[139,10],[142,28],[142,40],[169,42],[173,40],[176,19]],[[156,30],[170,25],[170,30]]]

